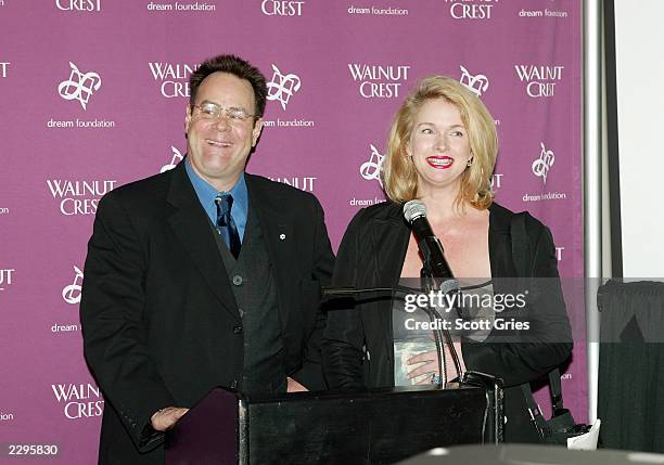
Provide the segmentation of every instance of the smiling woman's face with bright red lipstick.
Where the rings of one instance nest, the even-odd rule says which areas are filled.
[[[442,98],[424,102],[416,114],[407,154],[418,173],[418,195],[458,189],[472,155],[457,106]]]

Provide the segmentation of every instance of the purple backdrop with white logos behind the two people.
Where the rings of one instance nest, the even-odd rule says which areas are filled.
[[[413,82],[472,87],[498,125],[498,201],[550,225],[561,274],[580,279],[580,2],[563,0],[0,0],[0,443],[94,462],[103,400],[78,300],[95,205],[181,158],[188,77],[214,54],[270,79],[248,171],[314,192],[335,247],[383,198],[387,128]],[[563,389],[584,421],[574,326]]]

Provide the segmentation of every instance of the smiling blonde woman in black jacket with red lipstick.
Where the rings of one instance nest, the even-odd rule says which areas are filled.
[[[502,279],[520,275],[548,279],[526,308],[501,309],[499,315],[497,309],[491,311],[491,323],[498,317],[527,322],[527,331],[523,324],[501,332],[491,326],[488,334],[467,335],[455,344],[462,370],[505,380],[506,439],[536,442],[518,386],[569,358],[571,331],[551,233],[527,214],[523,215],[526,238],[516,244],[528,250],[527,271],[514,263],[514,214],[493,202],[490,190],[497,152],[494,119],[475,94],[444,76],[420,81],[390,130],[383,170],[388,201],[361,209],[348,225],[333,284],[394,287],[404,279],[420,276],[422,256],[403,215],[404,204],[416,198],[426,207],[454,275],[478,282],[475,292],[489,296],[514,292]],[[403,309],[396,299],[361,298],[329,311],[322,352],[330,388],[426,384],[443,375],[432,338],[410,331],[412,322],[409,326],[404,317],[414,313],[405,315],[399,306]],[[446,359],[454,375],[449,350]]]

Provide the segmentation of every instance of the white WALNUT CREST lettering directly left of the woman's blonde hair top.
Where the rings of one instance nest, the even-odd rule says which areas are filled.
[[[406,65],[367,65],[348,63],[353,80],[359,82],[359,93],[365,99],[395,99],[399,88],[408,80]]]

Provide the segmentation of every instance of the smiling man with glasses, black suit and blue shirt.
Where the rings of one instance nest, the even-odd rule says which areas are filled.
[[[318,201],[244,172],[263,74],[232,55],[192,74],[188,155],[99,204],[80,315],[105,398],[100,463],[162,463],[164,431],[215,386],[322,389],[319,289],[333,254]]]

